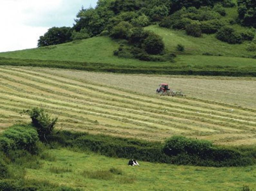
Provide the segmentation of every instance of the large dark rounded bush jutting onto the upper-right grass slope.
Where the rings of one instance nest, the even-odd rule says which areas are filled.
[[[222,27],[216,33],[216,38],[229,44],[241,44],[242,36],[230,27]]]

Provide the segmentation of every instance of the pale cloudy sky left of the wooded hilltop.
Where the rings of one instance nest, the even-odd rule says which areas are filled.
[[[73,26],[81,6],[97,0],[0,0],[0,52],[35,48],[51,27]]]

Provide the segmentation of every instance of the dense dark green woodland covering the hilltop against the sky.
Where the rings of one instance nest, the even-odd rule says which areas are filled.
[[[226,15],[224,7],[233,6],[235,4],[232,0],[99,0],[95,8],[82,7],[73,27],[49,29],[38,40],[38,46],[56,45],[97,35],[110,35],[130,41],[133,28],[145,27],[154,22],[159,22],[161,27],[184,29],[187,35],[194,37],[200,37],[203,33],[213,34],[222,29],[216,35],[218,39],[228,43],[241,43],[247,37],[225,28],[227,23],[219,20]],[[255,7],[254,0],[238,0],[239,19],[243,25],[256,28]],[[231,39],[223,36],[228,30],[232,34]],[[142,41],[141,47],[146,42],[145,39]],[[151,54],[150,48],[142,50]],[[159,54],[161,51],[156,52]]]

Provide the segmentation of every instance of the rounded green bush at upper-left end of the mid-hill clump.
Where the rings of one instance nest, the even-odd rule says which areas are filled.
[[[110,37],[128,39],[131,33],[132,25],[127,21],[122,21],[114,26],[110,31]]]

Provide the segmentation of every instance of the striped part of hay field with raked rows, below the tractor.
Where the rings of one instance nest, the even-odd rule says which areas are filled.
[[[179,134],[217,144],[256,143],[254,109],[189,96],[143,94],[64,74],[0,67],[0,128],[29,122],[19,112],[43,105],[58,116],[57,127],[62,129],[147,140]]]

